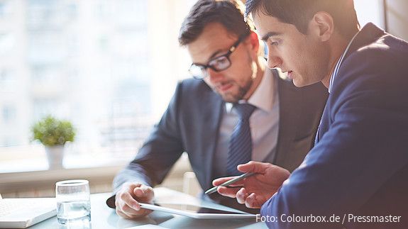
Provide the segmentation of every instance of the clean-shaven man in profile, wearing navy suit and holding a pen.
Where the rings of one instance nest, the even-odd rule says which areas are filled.
[[[263,216],[278,218],[270,228],[407,228],[408,43],[373,23],[360,29],[352,0],[248,0],[246,7],[268,44],[268,67],[288,72],[296,86],[321,82],[330,94],[299,168],[243,164],[241,172],[258,174],[219,193],[262,206]],[[285,218],[311,215],[341,220]]]

